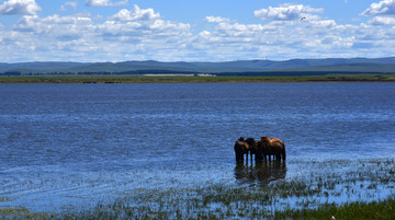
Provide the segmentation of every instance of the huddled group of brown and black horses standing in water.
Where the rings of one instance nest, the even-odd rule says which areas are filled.
[[[272,155],[278,161],[285,161],[285,144],[278,138],[261,137],[259,141],[256,141],[253,138],[245,140],[241,137],[235,143],[235,153],[238,163],[244,162],[245,154],[248,162],[248,153],[251,157],[251,163],[252,154],[256,155],[256,162],[262,162],[263,160],[270,162]]]

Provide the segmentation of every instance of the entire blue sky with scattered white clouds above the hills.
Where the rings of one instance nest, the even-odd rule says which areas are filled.
[[[0,62],[395,56],[395,0],[0,0]]]

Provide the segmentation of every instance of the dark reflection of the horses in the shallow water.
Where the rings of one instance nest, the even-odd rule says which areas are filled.
[[[285,178],[286,165],[284,162],[257,163],[256,166],[236,164],[235,178],[239,184],[268,185],[278,180]]]

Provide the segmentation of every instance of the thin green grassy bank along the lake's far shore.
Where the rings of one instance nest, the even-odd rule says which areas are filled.
[[[145,77],[145,76],[31,76],[0,77],[0,83],[221,83],[221,82],[395,82],[395,76],[308,77]]]

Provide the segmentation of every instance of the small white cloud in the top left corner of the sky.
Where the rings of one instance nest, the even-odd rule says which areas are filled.
[[[9,0],[0,5],[0,14],[36,14],[41,10],[35,0]]]

